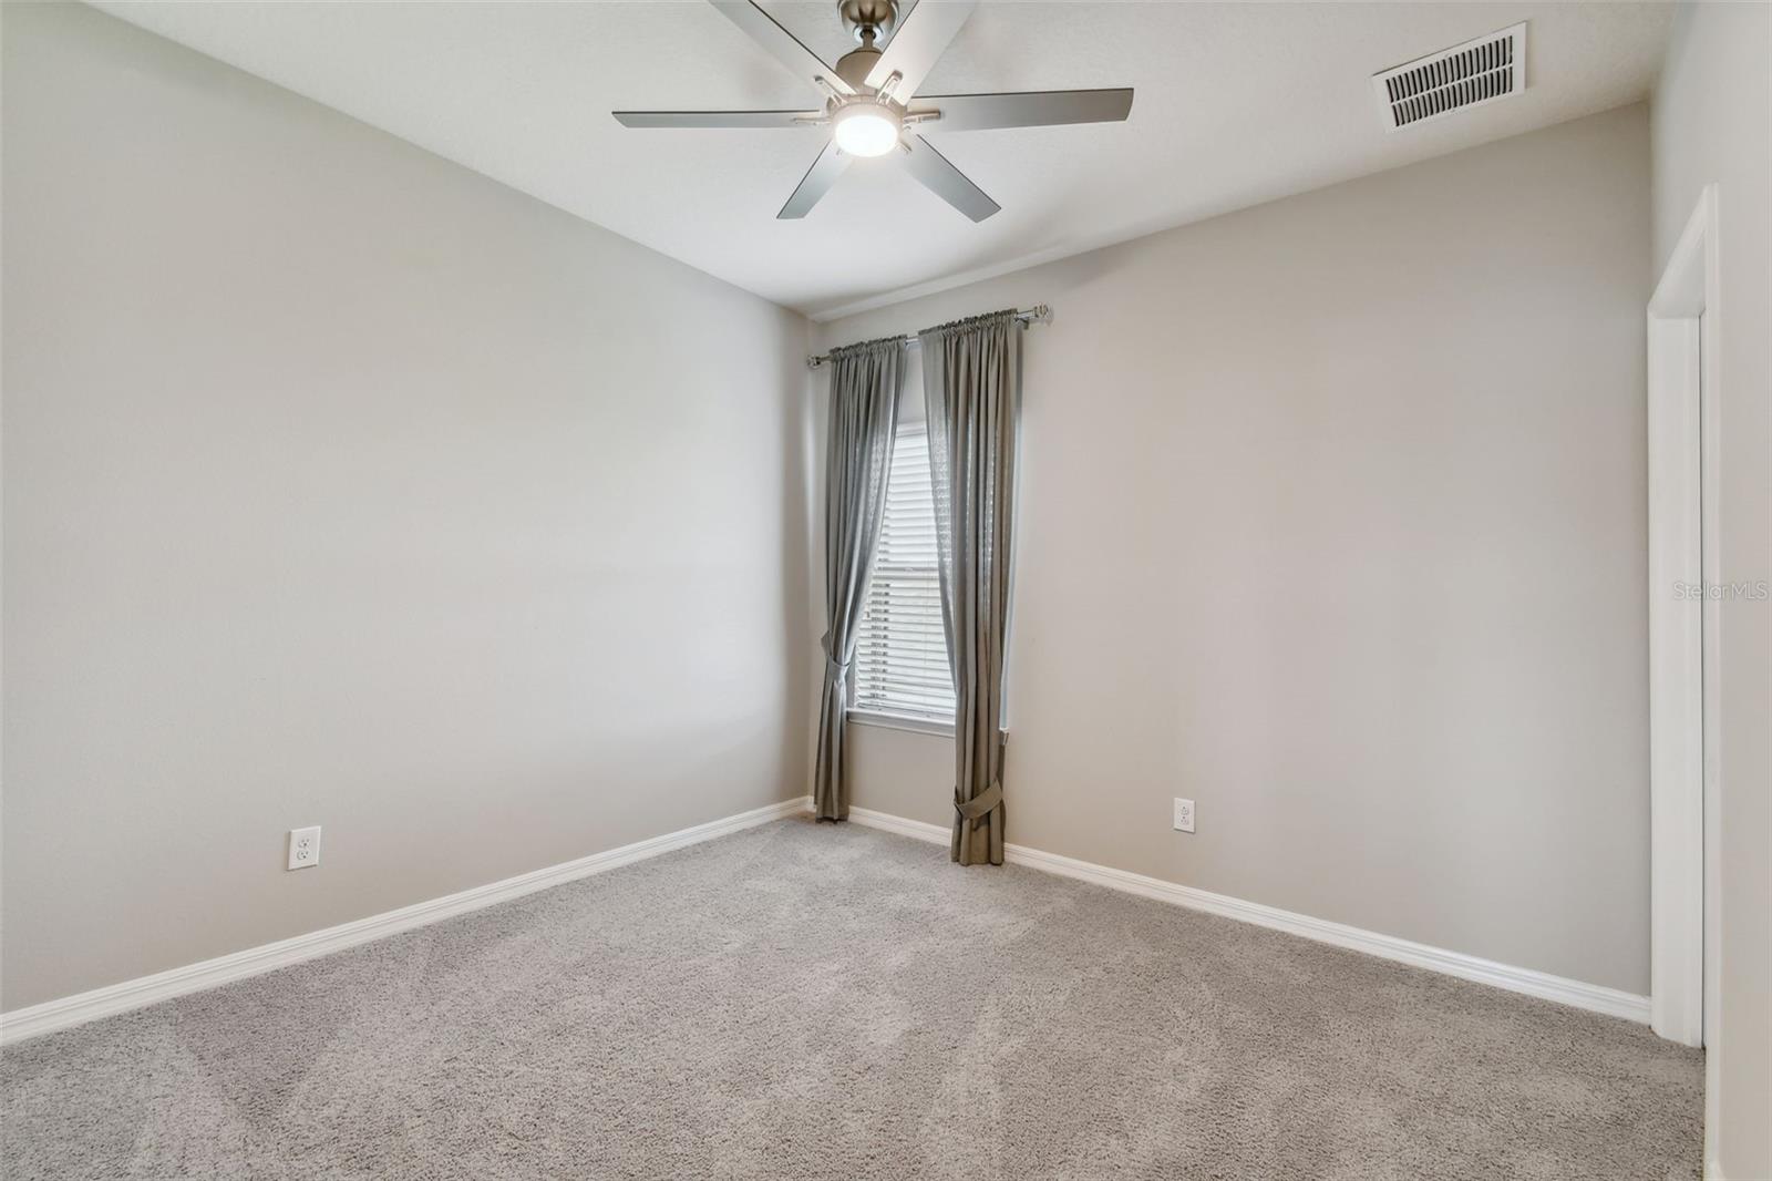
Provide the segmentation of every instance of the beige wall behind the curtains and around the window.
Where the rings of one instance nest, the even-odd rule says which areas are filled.
[[[1648,991],[1648,238],[1632,106],[824,325],[1056,309],[1010,841]]]

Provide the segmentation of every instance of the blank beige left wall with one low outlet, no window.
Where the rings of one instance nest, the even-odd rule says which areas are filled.
[[[804,791],[801,317],[4,9],[7,1009]]]

